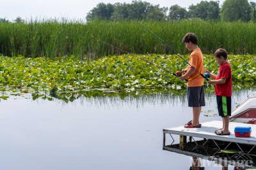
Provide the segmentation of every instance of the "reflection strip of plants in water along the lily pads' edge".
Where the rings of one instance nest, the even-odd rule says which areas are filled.
[[[233,105],[236,105],[241,97],[246,97],[249,95],[253,89],[244,89],[243,91],[233,91],[232,101]],[[151,91],[109,91],[106,89],[96,89],[92,91],[74,91],[68,93],[8,93],[1,92],[1,95],[9,96],[10,98],[24,97],[31,98],[33,100],[49,100],[54,102],[63,103],[74,103],[79,102],[80,104],[90,104],[95,107],[100,107],[102,105],[107,107],[115,107],[125,105],[137,105],[137,107],[143,107],[145,104],[150,105],[165,105],[181,104],[186,106],[186,91],[176,91],[175,93],[168,90],[157,92]],[[206,92],[205,98],[206,102],[212,102],[216,100],[214,92]]]

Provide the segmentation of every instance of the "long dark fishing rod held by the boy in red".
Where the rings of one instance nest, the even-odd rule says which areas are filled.
[[[144,26],[143,24],[141,24],[140,22],[138,22],[138,20],[136,20],[136,22],[138,24],[140,24],[140,26],[142,26],[143,28],[145,28],[148,32],[150,32],[152,35],[154,35],[155,38],[157,38],[157,40],[159,40],[161,43],[163,43],[163,45],[165,45],[166,47],[168,47],[169,49],[173,50],[173,52],[175,52],[175,54],[177,54],[177,56],[179,56],[179,58],[181,58],[183,61],[185,61],[189,66],[191,66],[188,61],[186,61],[186,59],[182,58],[182,56],[180,56],[180,54],[174,50],[170,45],[168,45],[168,43],[164,42],[163,39],[161,39],[159,36],[157,36],[153,31],[151,31],[150,29],[148,29],[148,27]],[[204,79],[206,81],[209,81],[209,79],[207,77],[205,77],[204,74],[200,73],[198,70],[196,70],[196,68],[194,66],[191,66],[197,73],[199,73],[202,77],[204,77]]]

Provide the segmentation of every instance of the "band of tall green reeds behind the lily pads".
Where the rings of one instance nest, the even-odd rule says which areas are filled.
[[[198,36],[205,54],[218,47],[233,54],[256,54],[255,23],[202,20],[142,23],[180,54],[188,53],[181,42],[188,32]],[[0,23],[0,53],[6,56],[97,58],[120,53],[97,40],[137,54],[174,53],[134,21]]]

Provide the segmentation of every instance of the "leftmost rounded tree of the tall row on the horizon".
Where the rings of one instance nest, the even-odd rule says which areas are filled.
[[[86,16],[86,20],[110,20],[111,15],[114,12],[115,5],[99,3],[95,8],[93,8]]]

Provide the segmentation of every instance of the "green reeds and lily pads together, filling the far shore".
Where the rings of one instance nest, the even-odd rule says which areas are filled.
[[[256,23],[200,19],[140,22],[185,59],[188,50],[181,39],[185,33],[195,33],[205,54],[204,66],[215,74],[218,65],[211,54],[220,47],[227,49],[233,88],[256,85]],[[81,96],[124,98],[184,93],[186,82],[140,60],[146,59],[176,73],[186,68],[186,63],[173,49],[161,44],[134,20],[1,22],[0,98],[7,99],[7,93],[29,93],[33,99],[59,98],[68,102]],[[213,90],[206,83],[205,88]]]

